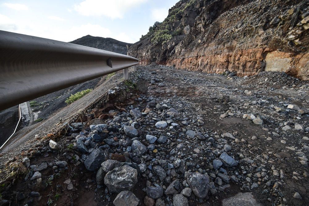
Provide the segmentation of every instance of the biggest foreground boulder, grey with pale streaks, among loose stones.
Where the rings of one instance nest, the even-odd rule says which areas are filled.
[[[109,171],[104,177],[104,184],[112,193],[131,190],[137,183],[137,170],[125,165]]]

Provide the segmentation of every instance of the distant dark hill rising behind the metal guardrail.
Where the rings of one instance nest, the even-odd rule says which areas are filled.
[[[79,44],[83,46],[90,46],[97,49],[103,49],[107,51],[112,51],[120,54],[127,55],[127,45],[131,46],[132,44],[120,42],[112,38],[103,38],[103,37],[93,37],[90,35],[76,39],[70,43]]]

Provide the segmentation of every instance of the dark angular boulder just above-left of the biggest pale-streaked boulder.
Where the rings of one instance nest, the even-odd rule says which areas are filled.
[[[107,159],[108,155],[102,153],[100,149],[94,149],[90,155],[87,156],[84,164],[85,167],[90,171],[99,169],[102,162]]]

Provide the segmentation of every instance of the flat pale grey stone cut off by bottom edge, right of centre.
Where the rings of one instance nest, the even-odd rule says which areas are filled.
[[[237,195],[223,199],[222,206],[262,206],[257,200],[254,198],[252,193],[238,193]]]

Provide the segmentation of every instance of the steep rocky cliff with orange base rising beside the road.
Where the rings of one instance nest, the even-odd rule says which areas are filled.
[[[309,1],[182,0],[129,48],[140,64],[309,80]]]

